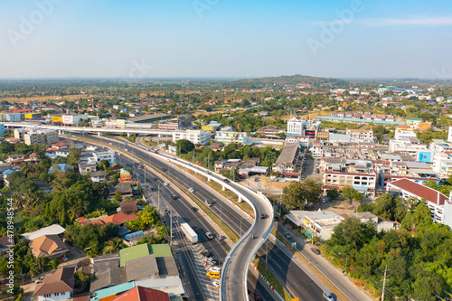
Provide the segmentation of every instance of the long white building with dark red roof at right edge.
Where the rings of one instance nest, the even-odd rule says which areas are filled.
[[[388,192],[396,193],[402,198],[424,199],[431,211],[434,222],[446,224],[452,227],[452,201],[437,190],[409,179],[400,179],[388,184]]]

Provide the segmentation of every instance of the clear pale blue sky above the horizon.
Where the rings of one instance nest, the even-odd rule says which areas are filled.
[[[449,0],[0,0],[0,78],[452,78]]]

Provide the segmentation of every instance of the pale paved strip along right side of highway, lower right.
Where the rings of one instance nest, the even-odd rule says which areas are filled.
[[[283,234],[284,231],[290,233],[292,238],[289,242],[297,242],[297,251],[299,251],[315,268],[317,268],[337,289],[339,289],[344,296],[349,300],[373,300],[363,290],[354,286],[352,279],[342,273],[342,269],[334,267],[330,261],[324,258],[323,255],[315,255],[311,248],[313,245],[306,244],[305,238],[298,232],[287,228],[282,222],[278,222],[278,232]]]

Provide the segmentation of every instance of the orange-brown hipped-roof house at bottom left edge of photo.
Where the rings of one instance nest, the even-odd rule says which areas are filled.
[[[46,274],[34,288],[33,297],[37,301],[70,300],[74,294],[74,269],[58,268]]]

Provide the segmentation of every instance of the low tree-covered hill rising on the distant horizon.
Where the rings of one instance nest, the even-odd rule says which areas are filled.
[[[246,80],[234,80],[231,81],[231,86],[254,86],[255,88],[265,87],[266,85],[272,86],[277,85],[297,85],[297,84],[310,84],[313,87],[349,87],[350,82],[347,80],[337,80],[337,79],[325,79],[316,78],[312,76],[305,75],[283,75],[278,77],[268,77],[260,79],[246,79]]]

